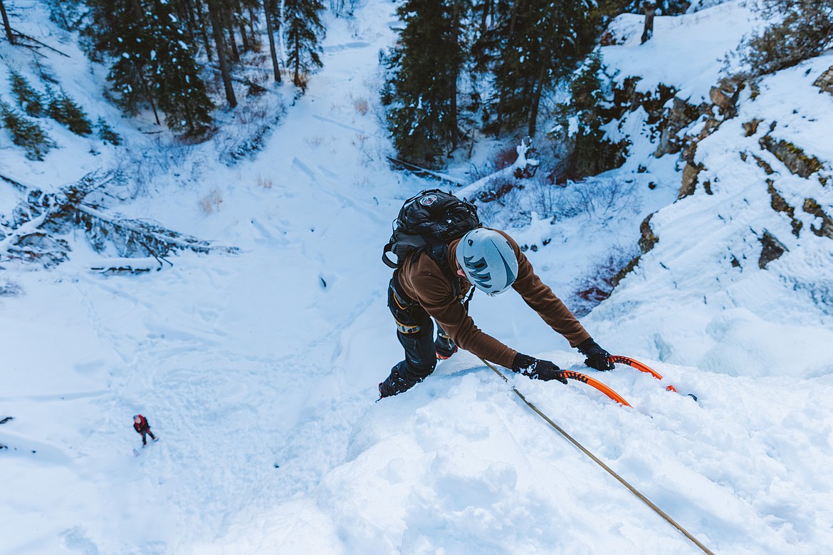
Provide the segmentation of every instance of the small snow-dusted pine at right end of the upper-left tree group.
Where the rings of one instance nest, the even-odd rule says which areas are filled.
[[[287,44],[287,66],[292,67],[292,82],[307,88],[307,74],[314,67],[322,67],[318,52],[324,37],[321,0],[284,0],[284,39]]]

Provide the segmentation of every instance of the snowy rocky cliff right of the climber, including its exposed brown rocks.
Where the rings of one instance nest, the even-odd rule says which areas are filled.
[[[645,43],[642,18],[611,23],[598,112],[626,156],[605,178],[641,173],[677,195],[623,240],[640,255],[583,323],[611,343],[645,330],[628,348],[666,362],[766,375],[794,368],[797,345],[831,344],[820,338],[833,329],[833,57],[725,78],[720,60],[750,21],[745,3],[726,2],[656,18]]]

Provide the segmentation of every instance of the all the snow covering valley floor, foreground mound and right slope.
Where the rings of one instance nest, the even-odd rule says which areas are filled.
[[[0,451],[0,522],[11,531],[3,549],[698,552],[518,403],[514,385],[715,552],[826,552],[833,324],[829,300],[814,303],[805,292],[829,277],[833,242],[813,233],[793,239],[790,223],[769,208],[766,176],[739,155],[760,138],[739,132],[747,117],[781,126],[805,115],[824,129],[830,111],[807,102],[827,97],[802,92],[801,105],[790,106],[768,96],[783,92],[779,80],[802,83],[809,66],[771,77],[755,102],[741,101],[736,120],[704,139],[701,179],[720,177],[711,195],[699,188],[672,203],[675,161],[649,158],[652,145],[643,142],[632,151],[641,159],[600,178],[630,179],[633,200],[556,225],[542,212],[512,231],[536,246],[532,263],[565,295],[588,258],[635,243],[641,220],[659,210],[651,218],[659,243],[584,323],[603,346],[643,359],[665,383],[629,368],[587,370],[516,296],[472,302],[486,331],[591,373],[634,408],[576,382],[506,384],[467,353],[407,394],[373,403],[401,357],[380,246],[402,199],[430,185],[387,168],[373,112],[377,52],[393,40],[394,7],[370,0],[356,19],[328,20],[325,69],[287,106],[257,158],[229,168],[217,162],[216,143],[176,153],[177,171],[160,170],[146,195],[117,207],[235,246],[237,255],[183,253],[159,272],[108,276],[90,272],[98,255],[77,237],[69,262],[49,272],[3,271],[20,292],[0,297],[0,419],[14,417],[0,425],[8,446]],[[743,21],[736,5],[686,16],[693,19],[685,25],[658,18],[651,48],[661,52],[670,40],[666,24],[677,34],[713,28],[727,10]],[[725,49],[736,38],[726,34]],[[689,55],[697,51],[692,44]],[[654,67],[665,73],[646,69],[646,81],[669,78],[671,62],[658,59]],[[679,85],[707,96],[708,79],[698,79]],[[290,104],[292,91],[270,95]],[[762,123],[761,133],[768,128]],[[118,131],[131,133],[127,124]],[[818,134],[789,140],[833,158]],[[2,156],[4,168],[29,181],[83,173],[62,170],[68,158]],[[801,196],[805,183],[779,171],[783,196]],[[823,203],[829,187],[812,194]],[[757,268],[751,226],[791,250]],[[743,254],[750,263],[741,268],[726,262]],[[799,280],[815,289],[794,288]],[[766,358],[774,363],[749,363]],[[666,383],[699,401],[667,392]],[[160,441],[134,457],[131,417],[139,412]]]

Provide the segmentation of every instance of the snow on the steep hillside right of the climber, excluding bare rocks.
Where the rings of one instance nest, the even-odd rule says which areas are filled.
[[[746,18],[738,2],[658,18],[655,37],[639,46],[637,22],[622,16],[614,28],[630,38],[601,51],[617,80],[645,76],[637,87],[651,91],[664,83],[696,105],[717,85],[718,59],[748,32]],[[663,64],[660,52],[675,52],[674,61]],[[731,375],[831,373],[833,240],[814,233],[822,218],[804,208],[813,199],[823,213],[833,213],[833,95],[813,85],[831,65],[827,54],[746,86],[736,117],[697,143],[693,163],[702,170],[695,193],[652,216],[658,243],[591,316],[608,337],[627,338],[630,348],[661,360]],[[696,137],[705,120],[680,135]],[[633,138],[640,141],[638,133]],[[813,158],[821,169],[796,175],[765,143]],[[786,249],[769,263],[761,262],[767,235]],[[641,329],[636,343],[632,328]]]

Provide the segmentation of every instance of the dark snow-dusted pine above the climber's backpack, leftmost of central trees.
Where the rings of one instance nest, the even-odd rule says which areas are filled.
[[[397,9],[405,24],[387,59],[382,103],[400,157],[426,165],[456,148],[457,80],[464,59],[461,0],[407,0]]]

